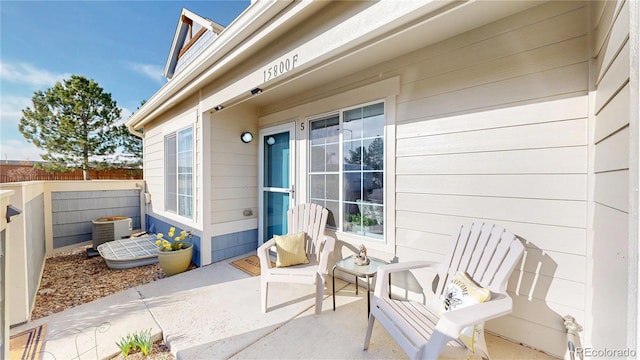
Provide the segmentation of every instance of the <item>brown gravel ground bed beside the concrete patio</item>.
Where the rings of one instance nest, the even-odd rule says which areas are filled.
[[[101,256],[87,257],[89,247],[60,253],[46,260],[32,320],[165,277],[158,264],[125,270],[109,269]],[[192,264],[189,270],[193,268],[195,266]],[[144,357],[141,353],[129,354],[127,359],[175,358],[165,344],[158,341],[149,356]]]

